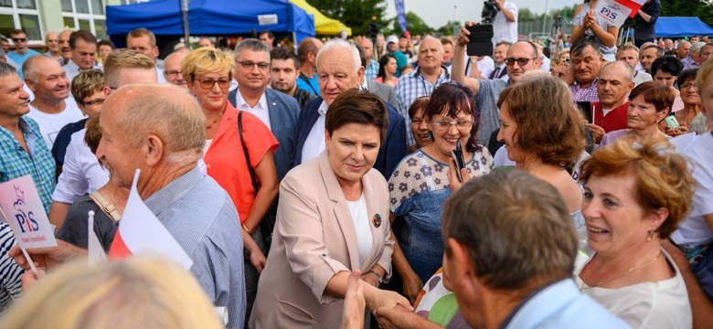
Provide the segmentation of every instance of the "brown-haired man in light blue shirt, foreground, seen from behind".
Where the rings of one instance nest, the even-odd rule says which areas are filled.
[[[460,185],[451,183],[442,214],[442,284],[459,308],[450,313],[474,328],[629,327],[572,280],[578,239],[554,186],[516,170]],[[425,327],[410,314],[411,326]],[[377,315],[404,320],[396,309]]]

